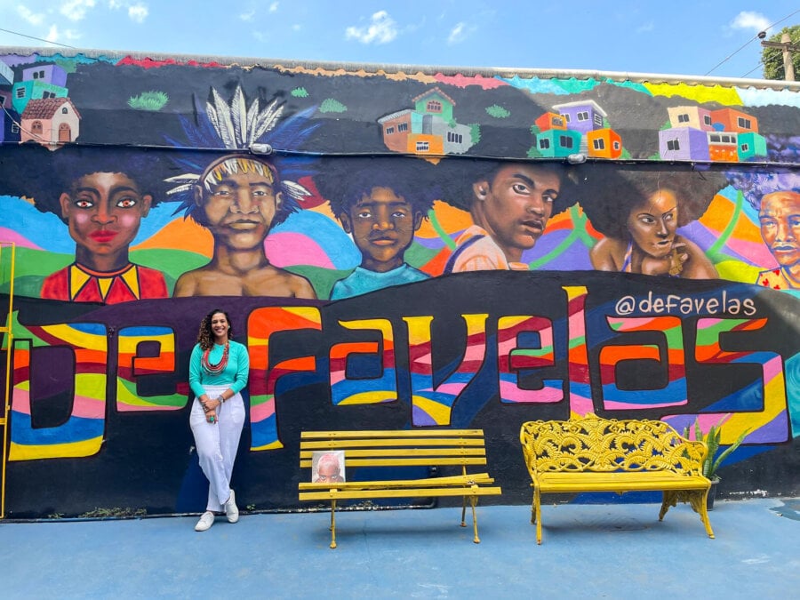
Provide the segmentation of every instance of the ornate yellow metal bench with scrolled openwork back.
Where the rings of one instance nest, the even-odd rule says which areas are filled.
[[[541,543],[541,494],[564,492],[663,492],[659,520],[678,500],[700,514],[708,537],[702,475],[705,442],[678,435],[660,420],[582,419],[531,421],[520,429],[525,465],[531,474],[531,523]]]

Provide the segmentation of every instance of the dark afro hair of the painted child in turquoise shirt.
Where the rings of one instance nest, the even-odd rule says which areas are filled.
[[[432,165],[420,158],[332,158],[324,163],[315,184],[337,217],[369,196],[372,188],[389,188],[427,218],[434,200],[441,196],[432,174]]]

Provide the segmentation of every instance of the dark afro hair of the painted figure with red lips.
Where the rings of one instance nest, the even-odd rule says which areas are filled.
[[[31,198],[39,211],[59,217],[61,194],[72,191],[84,175],[98,172],[124,173],[142,194],[153,196],[151,206],[164,201],[164,178],[174,174],[158,150],[68,146],[51,151],[36,143],[0,145],[0,194]]]

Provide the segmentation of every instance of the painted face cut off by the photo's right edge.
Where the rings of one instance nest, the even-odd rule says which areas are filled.
[[[772,192],[761,200],[761,236],[781,267],[800,263],[800,193]]]

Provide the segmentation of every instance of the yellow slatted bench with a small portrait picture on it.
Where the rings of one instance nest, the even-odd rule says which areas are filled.
[[[488,473],[468,473],[467,468],[486,464],[481,429],[412,429],[402,431],[304,431],[300,434],[300,468],[310,469],[314,452],[343,450],[348,479],[359,467],[460,467],[460,475],[422,479],[348,481],[347,483],[300,483],[300,500],[330,500],[331,548],[336,548],[336,501],[376,498],[433,498],[462,496],[461,526],[467,499],[472,505],[475,543],[478,496],[500,494]],[[391,474],[387,474],[391,476]],[[310,482],[311,477],[305,477]]]

